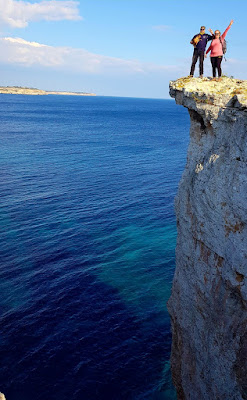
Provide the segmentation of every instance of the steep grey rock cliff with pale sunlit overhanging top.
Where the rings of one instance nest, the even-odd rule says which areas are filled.
[[[187,165],[168,310],[178,399],[247,399],[247,81],[180,79]]]

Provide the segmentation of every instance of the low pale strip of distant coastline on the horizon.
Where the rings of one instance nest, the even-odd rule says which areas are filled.
[[[64,95],[64,96],[96,96],[95,93],[86,93],[86,92],[57,92],[57,91],[47,91],[40,90],[36,88],[27,88],[21,86],[0,86],[0,94],[29,94],[29,95]]]

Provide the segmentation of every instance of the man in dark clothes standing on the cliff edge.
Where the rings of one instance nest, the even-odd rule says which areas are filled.
[[[200,78],[203,78],[203,61],[204,61],[204,53],[207,46],[207,42],[213,39],[213,36],[208,35],[205,33],[205,26],[202,26],[200,29],[200,33],[195,35],[190,43],[194,46],[194,53],[192,57],[192,64],[190,69],[190,76],[192,77],[195,72],[195,66],[197,60],[199,58],[199,71],[200,71]],[[211,31],[210,31],[211,32]],[[213,33],[213,32],[211,32]]]

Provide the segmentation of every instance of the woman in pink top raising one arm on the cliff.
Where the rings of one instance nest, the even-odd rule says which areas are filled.
[[[214,32],[214,39],[212,40],[211,45],[206,51],[205,57],[207,57],[208,52],[211,50],[210,59],[212,64],[213,71],[213,79],[216,80],[216,69],[218,71],[218,80],[221,80],[221,61],[223,58],[223,42],[225,40],[226,34],[229,31],[233,24],[233,20],[231,20],[230,24],[226,28],[225,32],[220,35],[220,31],[216,30]],[[209,29],[209,32],[213,34],[213,31]]]

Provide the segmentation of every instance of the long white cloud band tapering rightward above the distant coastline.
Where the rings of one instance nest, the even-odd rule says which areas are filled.
[[[21,38],[0,39],[0,63],[26,67],[41,66],[89,74],[149,74],[179,71],[174,65],[142,63],[138,60],[102,56],[85,49],[53,47]]]

